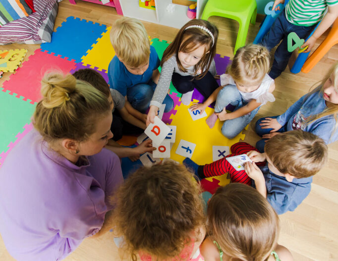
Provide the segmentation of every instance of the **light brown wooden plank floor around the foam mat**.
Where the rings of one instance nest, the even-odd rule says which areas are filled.
[[[76,5],[63,0],[59,4],[55,29],[68,16],[80,17],[100,24],[111,25],[120,16],[113,7],[101,6],[77,0]],[[237,36],[236,22],[221,17],[211,17],[220,30],[217,53],[233,57],[233,47]],[[144,22],[150,37],[172,41],[178,29]],[[253,42],[259,24],[250,25],[247,42]],[[326,32],[327,34],[327,32]],[[326,35],[325,34],[325,35]],[[318,41],[323,40],[323,36]],[[318,43],[318,44],[319,44]],[[71,43],[64,43],[68,45]],[[318,46],[318,45],[317,45]],[[316,46],[316,47],[317,47]],[[39,45],[12,44],[0,47],[0,50],[26,48],[27,57],[39,48]],[[288,69],[276,79],[274,95],[276,102],[264,105],[254,121],[262,116],[279,115],[298,98],[308,92],[311,86],[320,81],[330,66],[338,61],[338,46],[333,47],[325,57],[311,70],[304,74],[292,74]],[[9,73],[0,79],[0,87],[7,80]],[[245,132],[245,141],[255,144],[258,136],[251,124]],[[313,179],[310,195],[294,211],[280,216],[282,231],[279,243],[291,250],[295,261],[334,261],[338,260],[338,143],[329,146],[329,162]],[[0,261],[12,261],[0,239]],[[83,241],[66,261],[118,261],[117,249],[111,233],[98,239],[88,238]]]

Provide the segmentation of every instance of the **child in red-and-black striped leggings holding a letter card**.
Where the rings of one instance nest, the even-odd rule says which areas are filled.
[[[310,193],[312,176],[326,162],[328,147],[318,136],[294,130],[269,139],[265,153],[244,142],[231,146],[231,152],[233,154],[226,157],[247,154],[253,162],[246,162],[245,170],[240,171],[235,170],[226,157],[206,165],[185,158],[183,164],[200,178],[229,173],[231,182],[256,188],[276,212],[282,214],[296,209]]]

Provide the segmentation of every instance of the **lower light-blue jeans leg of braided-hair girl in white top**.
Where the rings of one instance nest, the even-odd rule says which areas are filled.
[[[240,102],[234,110],[237,110],[244,105],[245,104]],[[245,128],[245,126],[252,121],[254,116],[257,114],[259,108],[260,107],[255,108],[253,111],[241,117],[232,120],[226,120],[221,129],[222,134],[228,139],[233,139],[234,137],[236,137]]]

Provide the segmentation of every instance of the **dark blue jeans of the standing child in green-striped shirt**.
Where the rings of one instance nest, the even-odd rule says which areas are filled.
[[[265,35],[260,43],[270,51],[282,40],[282,43],[275,52],[274,63],[269,72],[269,76],[271,78],[276,79],[281,75],[282,71],[284,71],[287,66],[289,58],[291,57],[292,52],[287,51],[288,34],[295,32],[300,39],[306,39],[315,27],[316,25],[301,26],[291,24],[285,17],[285,11],[283,10],[280,13],[271,26],[270,31]]]

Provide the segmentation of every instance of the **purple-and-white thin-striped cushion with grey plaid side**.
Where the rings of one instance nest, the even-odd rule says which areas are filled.
[[[56,0],[33,0],[33,3],[35,13],[0,27],[0,45],[51,42],[57,2]]]

